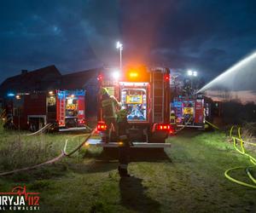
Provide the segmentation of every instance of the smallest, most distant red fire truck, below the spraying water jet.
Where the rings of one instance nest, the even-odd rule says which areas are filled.
[[[212,123],[212,99],[204,95],[178,96],[171,103],[176,115],[177,127],[205,129],[207,122]]]

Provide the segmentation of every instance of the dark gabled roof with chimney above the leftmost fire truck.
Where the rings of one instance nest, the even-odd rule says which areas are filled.
[[[11,92],[30,92],[60,88],[61,72],[55,66],[46,66],[32,72],[22,71],[20,75],[7,78],[0,85],[0,96]]]

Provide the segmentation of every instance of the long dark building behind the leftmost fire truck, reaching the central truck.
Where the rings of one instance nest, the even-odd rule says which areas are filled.
[[[0,99],[9,94],[29,93],[55,89],[85,89],[86,113],[96,116],[97,76],[102,68],[62,75],[55,66],[46,66],[31,72],[7,78],[0,84]]]

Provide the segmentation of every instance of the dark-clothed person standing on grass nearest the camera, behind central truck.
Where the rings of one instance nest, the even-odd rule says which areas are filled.
[[[130,158],[131,141],[129,138],[127,111],[125,109],[118,112],[117,124],[119,135],[119,176],[130,177],[127,169]]]

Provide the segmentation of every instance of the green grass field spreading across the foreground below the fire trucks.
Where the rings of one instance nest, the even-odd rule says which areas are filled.
[[[84,136],[49,134],[19,140],[16,133],[5,134],[0,139],[0,171],[53,158],[67,138],[68,151]],[[0,177],[0,192],[26,185],[28,191],[41,193],[40,212],[256,212],[256,190],[224,177],[230,167],[250,164],[226,135],[183,131],[168,142],[172,148],[165,153],[132,152],[131,178],[119,178],[114,155],[91,147],[38,170]],[[13,155],[8,157],[9,152]],[[232,176],[247,181],[244,170]]]

